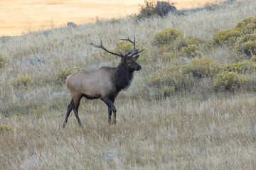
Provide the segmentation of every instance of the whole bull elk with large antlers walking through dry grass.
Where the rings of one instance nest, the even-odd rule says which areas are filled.
[[[117,110],[114,107],[114,99],[119,94],[119,91],[129,87],[134,71],[139,71],[142,69],[136,60],[139,57],[139,53],[143,50],[139,50],[139,48],[136,49],[135,38],[134,41],[130,40],[129,38],[121,40],[132,42],[133,50],[122,55],[122,53],[117,54],[107,50],[105,47],[103,47],[102,41],[100,41],[100,45],[90,43],[90,45],[93,45],[94,47],[102,48],[112,55],[121,57],[122,60],[117,67],[101,67],[100,69],[93,71],[75,72],[68,77],[66,84],[71,93],[72,100],[68,105],[63,128],[65,128],[65,125],[68,122],[68,116],[72,110],[75,113],[78,124],[82,126],[78,116],[78,108],[82,97],[87,99],[100,98],[102,101],[104,101],[108,106],[108,123],[112,123],[112,113],[114,113],[113,123],[116,123]]]

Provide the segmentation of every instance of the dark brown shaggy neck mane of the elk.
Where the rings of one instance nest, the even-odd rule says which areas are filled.
[[[130,72],[124,64],[119,64],[114,73],[114,84],[117,91],[127,89],[132,82],[133,72]]]

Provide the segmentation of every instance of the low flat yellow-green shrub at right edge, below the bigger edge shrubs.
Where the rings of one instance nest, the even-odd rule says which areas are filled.
[[[226,69],[229,72],[238,72],[238,73],[253,73],[256,71],[256,62],[248,62],[245,60],[244,62],[238,62],[235,64],[227,64]]]

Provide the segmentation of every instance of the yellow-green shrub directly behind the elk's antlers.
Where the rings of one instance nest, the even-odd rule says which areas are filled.
[[[140,47],[140,50],[144,49],[144,51],[142,53],[139,54],[139,58],[138,58],[138,62],[142,62],[142,61],[146,61],[148,60],[148,52],[149,50],[144,47],[144,45],[136,42],[136,48],[138,49]],[[132,42],[129,41],[121,41],[121,42],[117,42],[117,48],[114,49],[114,52],[122,52],[122,54],[125,54],[127,52],[130,52],[133,48],[133,44]]]

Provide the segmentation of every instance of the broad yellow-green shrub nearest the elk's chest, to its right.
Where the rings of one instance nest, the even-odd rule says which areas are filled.
[[[161,67],[150,77],[151,85],[163,90],[166,86],[173,86],[176,90],[188,89],[192,83],[191,74],[183,74],[181,67],[171,64]]]

